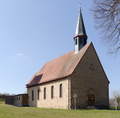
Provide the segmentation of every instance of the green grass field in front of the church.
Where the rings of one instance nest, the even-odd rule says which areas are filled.
[[[0,118],[120,118],[120,111],[16,107],[0,102]]]

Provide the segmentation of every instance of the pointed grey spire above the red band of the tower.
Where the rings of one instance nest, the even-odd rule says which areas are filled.
[[[85,27],[84,27],[84,22],[83,22],[83,17],[82,17],[81,8],[79,8],[79,16],[78,16],[78,21],[77,21],[77,26],[76,26],[76,32],[75,32],[74,39],[76,37],[81,37],[81,36],[87,38]]]

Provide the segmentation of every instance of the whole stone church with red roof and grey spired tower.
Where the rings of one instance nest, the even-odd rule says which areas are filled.
[[[40,108],[109,107],[109,80],[87,34],[79,9],[75,49],[44,64],[27,83],[28,105]]]

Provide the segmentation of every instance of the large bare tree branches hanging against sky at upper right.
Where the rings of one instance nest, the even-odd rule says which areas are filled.
[[[102,40],[109,53],[120,49],[120,0],[93,0],[91,9],[96,29],[101,29]]]

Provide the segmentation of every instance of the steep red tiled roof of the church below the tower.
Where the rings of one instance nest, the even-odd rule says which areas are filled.
[[[54,81],[71,75],[92,42],[86,44],[77,54],[71,51],[44,64],[28,82],[27,87]]]

